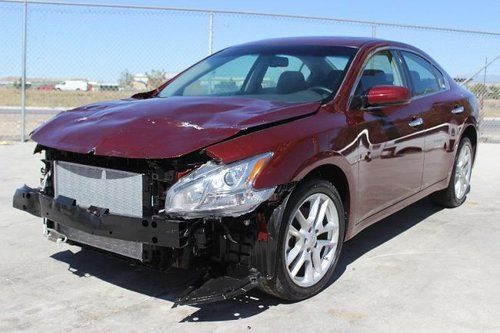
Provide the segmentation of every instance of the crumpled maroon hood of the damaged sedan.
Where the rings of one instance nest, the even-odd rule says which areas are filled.
[[[75,153],[172,158],[244,129],[314,113],[319,106],[231,97],[126,99],[61,112],[31,138]]]

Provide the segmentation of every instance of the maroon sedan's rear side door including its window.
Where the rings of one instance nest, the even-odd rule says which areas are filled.
[[[413,52],[400,53],[410,77],[412,100],[419,105],[425,127],[422,188],[426,188],[446,179],[451,171],[453,144],[458,135],[455,118],[460,117],[463,106],[430,61]]]

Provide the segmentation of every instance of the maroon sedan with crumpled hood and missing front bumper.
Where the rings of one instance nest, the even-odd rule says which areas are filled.
[[[253,42],[41,125],[43,181],[14,207],[49,239],[205,272],[179,304],[253,287],[302,300],[363,228],[426,196],[464,202],[477,117],[474,96],[410,45]]]

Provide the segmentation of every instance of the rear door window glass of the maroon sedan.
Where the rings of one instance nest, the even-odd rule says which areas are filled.
[[[422,96],[446,89],[443,75],[427,60],[415,53],[402,51],[413,85],[413,95]]]

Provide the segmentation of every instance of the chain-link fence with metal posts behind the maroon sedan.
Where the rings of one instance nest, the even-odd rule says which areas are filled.
[[[500,33],[326,17],[19,0],[0,0],[0,141],[24,140],[60,110],[152,89],[224,47],[308,35],[376,36],[423,49],[476,94],[482,139],[500,142]]]

